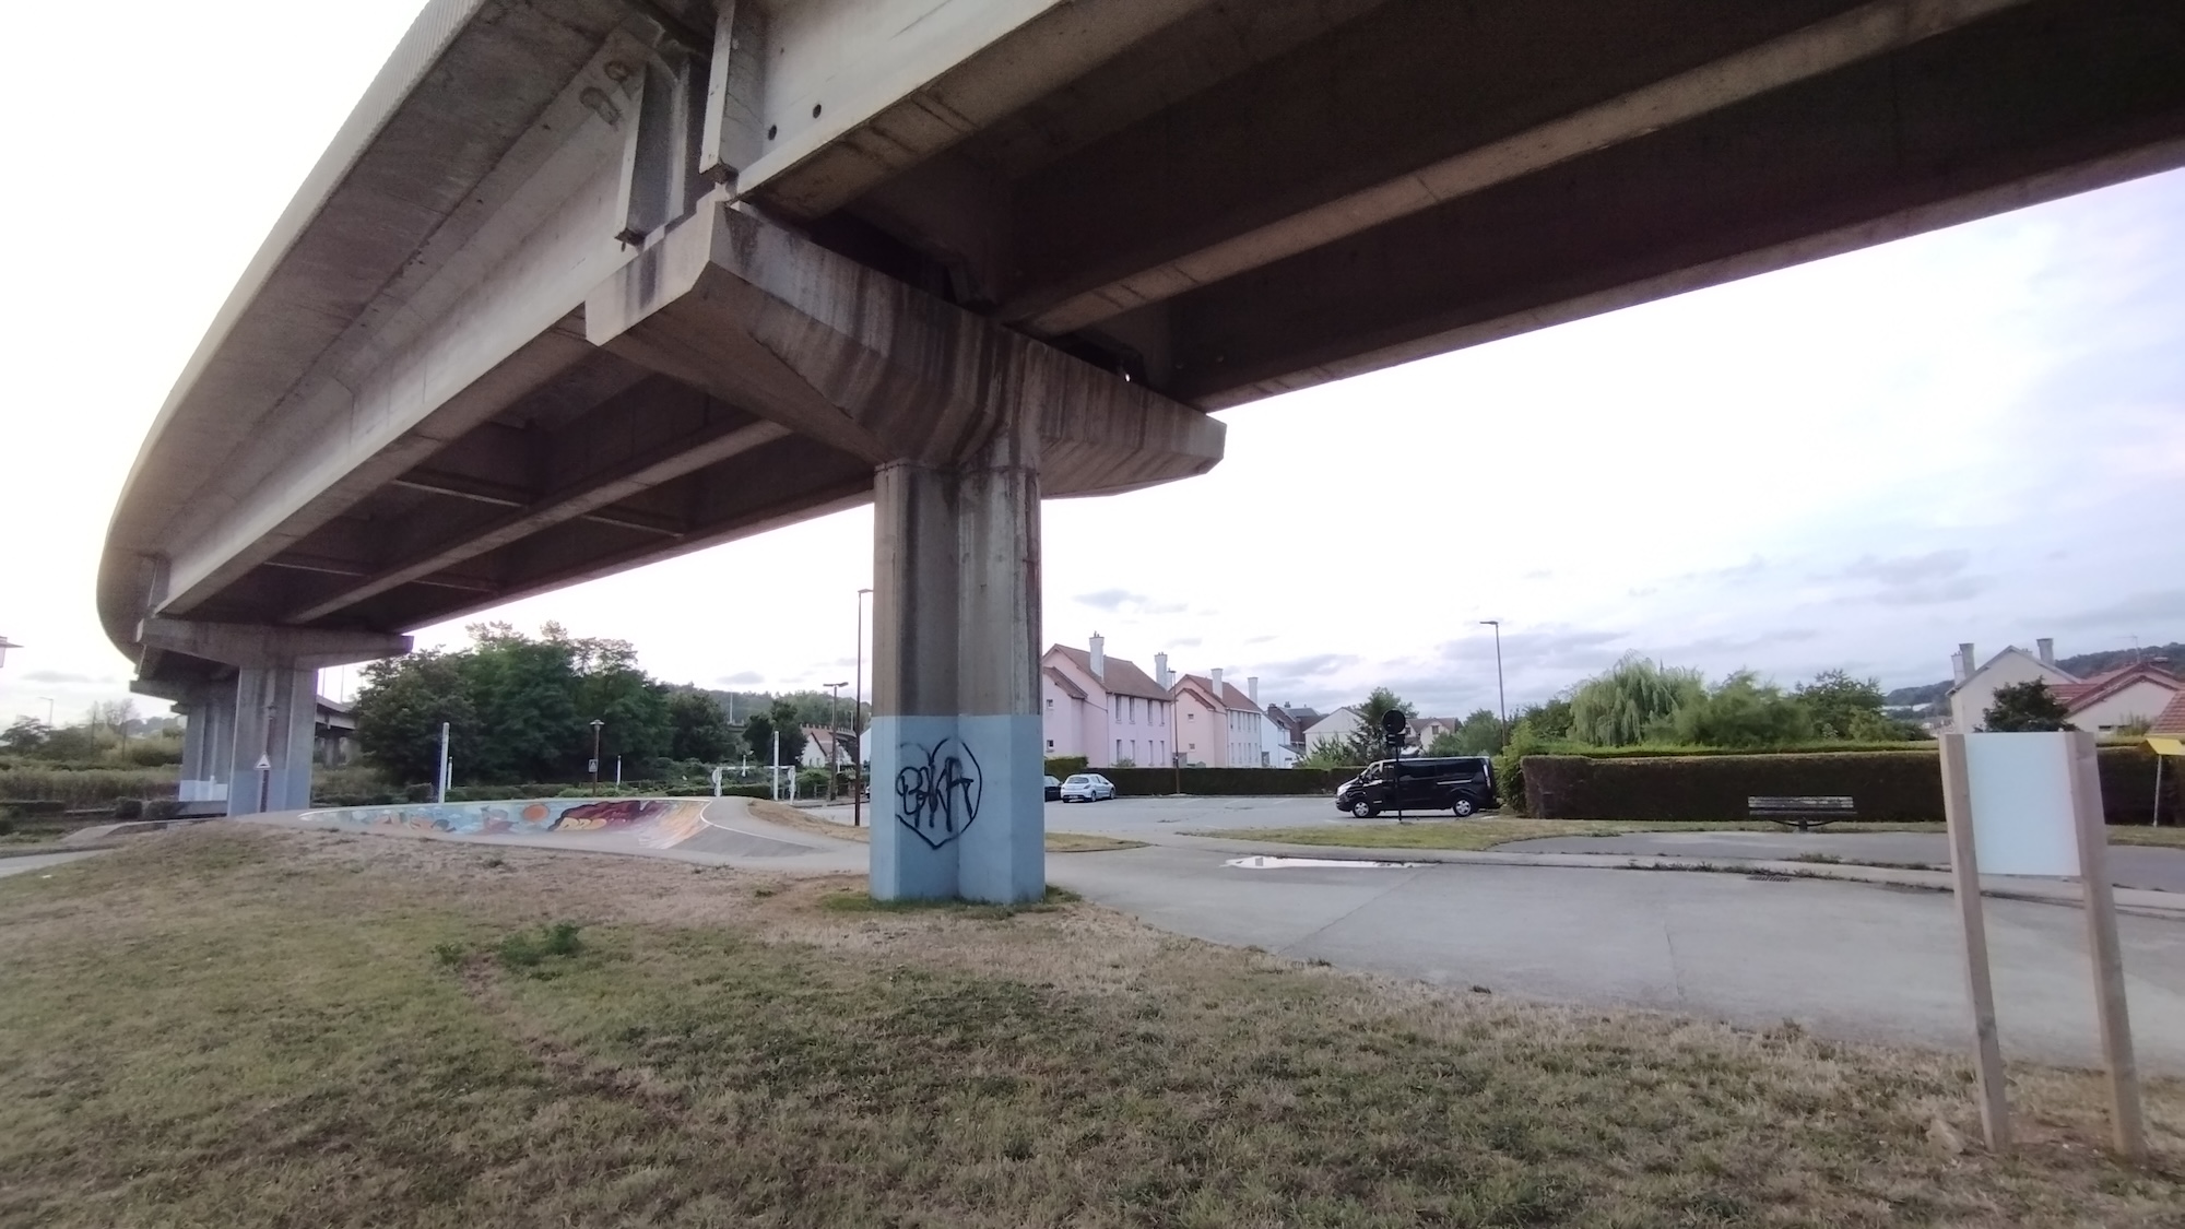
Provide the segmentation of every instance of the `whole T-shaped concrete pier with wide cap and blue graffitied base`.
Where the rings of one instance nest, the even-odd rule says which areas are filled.
[[[1040,499],[1206,472],[1224,426],[736,208],[586,330],[874,466],[872,894],[1040,899]]]

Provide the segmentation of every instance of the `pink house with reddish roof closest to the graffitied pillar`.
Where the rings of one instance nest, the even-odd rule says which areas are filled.
[[[1138,663],[1108,656],[1099,632],[1090,645],[1055,645],[1040,656],[1047,754],[1082,754],[1092,768],[1167,765],[1176,746],[1169,691]],[[1167,654],[1156,663],[1167,671]]]

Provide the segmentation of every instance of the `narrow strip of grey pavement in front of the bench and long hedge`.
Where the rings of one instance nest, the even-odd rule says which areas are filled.
[[[1630,835],[1551,835],[1497,844],[1497,853],[1634,853],[1658,857],[1755,857],[1790,859],[1800,855],[1840,857],[1844,862],[1905,864],[1949,868],[1949,838],[1940,833],[1630,833]],[[2150,848],[2139,844],[2109,846],[2109,879],[2119,888],[2152,892],[2185,892],[2185,848]]]

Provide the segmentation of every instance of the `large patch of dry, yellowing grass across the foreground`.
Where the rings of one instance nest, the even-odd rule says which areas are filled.
[[[2178,1225],[2098,1080],[1444,995],[1084,903],[205,824],[0,881],[0,1225]],[[496,956],[527,938],[531,964]]]

